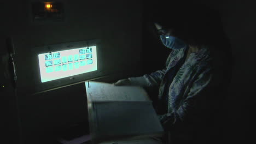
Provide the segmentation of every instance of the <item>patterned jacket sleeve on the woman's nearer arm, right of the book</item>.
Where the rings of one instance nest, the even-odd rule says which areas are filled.
[[[183,100],[181,106],[172,113],[166,113],[165,115],[159,115],[159,119],[166,129],[172,127],[176,123],[186,121],[188,116],[193,116],[194,113],[200,111],[199,101],[201,101],[203,95],[203,89],[210,83],[212,74],[210,70],[200,74],[190,87],[190,91],[187,97]],[[202,97],[201,97],[202,96]]]

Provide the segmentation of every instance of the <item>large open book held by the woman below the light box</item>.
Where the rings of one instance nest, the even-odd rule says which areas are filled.
[[[92,141],[136,140],[164,133],[148,94],[141,87],[86,81]]]

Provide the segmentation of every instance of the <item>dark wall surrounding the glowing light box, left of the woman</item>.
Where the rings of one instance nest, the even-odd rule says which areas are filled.
[[[87,119],[83,83],[31,94],[31,89],[40,82],[34,79],[38,75],[38,65],[33,57],[40,51],[34,47],[100,39],[101,73],[108,76],[104,81],[137,75],[141,69],[137,67],[142,51],[139,1],[62,1],[66,20],[42,23],[31,21],[30,4],[33,1],[1,2],[0,47],[4,55],[5,39],[13,38],[22,139],[25,143],[47,139],[46,135],[55,130],[86,122]],[[7,97],[14,95],[8,94]]]

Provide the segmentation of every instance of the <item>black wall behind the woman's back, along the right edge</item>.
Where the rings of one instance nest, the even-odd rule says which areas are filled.
[[[252,1],[211,1],[202,2],[211,5],[222,16],[223,27],[231,45],[232,78],[227,87],[225,99],[225,139],[249,139],[252,126],[250,116],[251,96],[255,93],[255,58],[253,58],[254,27],[256,11]]]

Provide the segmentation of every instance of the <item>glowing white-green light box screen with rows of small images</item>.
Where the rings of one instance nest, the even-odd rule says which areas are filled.
[[[42,82],[97,70],[96,46],[41,53],[38,59]]]

